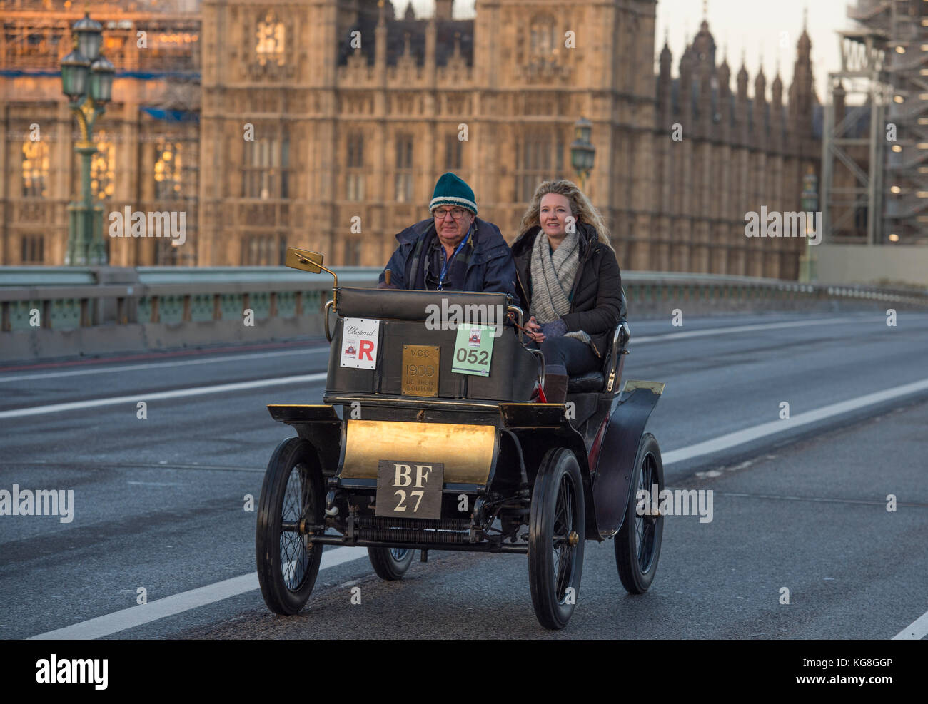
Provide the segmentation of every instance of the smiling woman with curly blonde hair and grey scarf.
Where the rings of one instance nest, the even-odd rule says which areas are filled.
[[[609,230],[571,181],[546,181],[512,243],[525,324],[545,357],[545,396],[564,403],[567,379],[599,369],[619,323],[622,274]]]

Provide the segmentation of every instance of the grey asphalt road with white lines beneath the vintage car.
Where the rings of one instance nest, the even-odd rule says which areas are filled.
[[[558,633],[524,556],[432,552],[381,582],[327,548],[303,612],[268,612],[245,497],[292,433],[264,405],[319,403],[324,345],[0,370],[0,490],[74,492],[70,522],[0,516],[0,637],[891,638],[928,610],[928,315],[641,322],[631,349],[626,379],[667,383],[667,484],[712,490],[713,519],[666,518],[641,596],[587,542]]]

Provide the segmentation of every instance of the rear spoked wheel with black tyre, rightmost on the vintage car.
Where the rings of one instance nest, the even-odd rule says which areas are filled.
[[[657,485],[658,494],[664,491],[664,463],[661,461],[661,448],[650,432],[641,436],[638,442],[638,455],[632,474],[628,506],[622,529],[615,536],[615,565],[619,570],[619,579],[629,594],[644,594],[654,580],[657,561],[661,557],[661,540],[664,537],[664,517],[646,514],[638,516],[637,494],[641,489],[652,492]],[[651,501],[658,501],[651,496]],[[651,506],[646,506],[651,509]]]

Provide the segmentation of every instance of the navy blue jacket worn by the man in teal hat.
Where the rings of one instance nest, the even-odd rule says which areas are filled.
[[[519,296],[516,294],[516,267],[512,261],[512,252],[503,239],[499,228],[480,218],[474,218],[476,231],[473,236],[474,250],[470,255],[467,274],[464,279],[466,291],[498,291],[508,293],[513,298],[514,305],[519,305]],[[434,219],[429,218],[417,224],[406,227],[396,236],[399,247],[393,252],[390,262],[384,270],[391,271],[391,288],[412,288],[416,273],[411,271],[413,253],[420,241],[434,233]],[[421,256],[425,256],[425,247],[420,248]],[[380,272],[380,285],[384,283],[384,274]]]

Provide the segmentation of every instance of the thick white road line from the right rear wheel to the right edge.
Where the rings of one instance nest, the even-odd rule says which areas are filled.
[[[859,408],[874,403],[891,401],[892,399],[908,396],[911,393],[917,393],[923,390],[928,390],[928,378],[923,378],[921,381],[913,381],[910,384],[903,384],[902,386],[894,386],[891,389],[867,393],[863,396],[857,396],[857,398],[840,403],[830,403],[821,408],[816,408],[814,411],[806,411],[806,413],[800,413],[797,416],[792,416],[783,420],[771,420],[767,423],[753,426],[752,428],[729,432],[725,435],[713,438],[712,440],[697,442],[687,447],[681,447],[678,450],[671,450],[670,452],[664,453],[664,467],[672,465],[675,462],[683,462],[693,457],[699,457],[703,454],[717,453],[720,450],[727,450],[729,447],[740,445],[743,442],[751,442],[758,438],[767,437],[767,435],[793,430],[810,423],[816,423],[819,420],[824,420],[833,416],[841,416],[844,413],[856,411]]]

